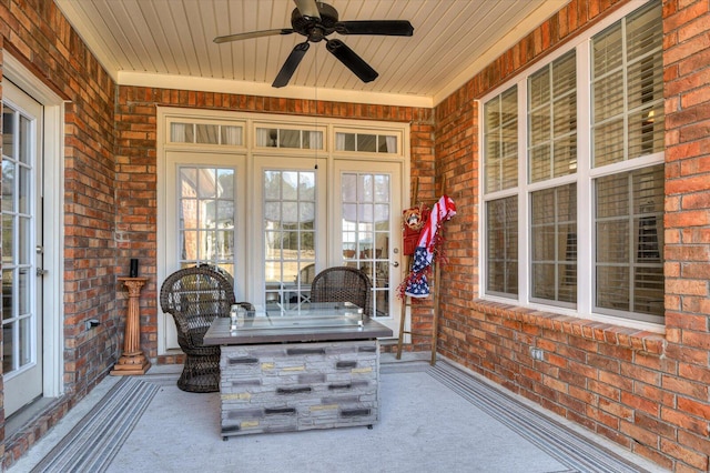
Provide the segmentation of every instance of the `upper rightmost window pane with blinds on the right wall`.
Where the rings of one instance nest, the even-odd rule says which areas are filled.
[[[658,1],[592,37],[595,168],[663,150],[662,41]]]

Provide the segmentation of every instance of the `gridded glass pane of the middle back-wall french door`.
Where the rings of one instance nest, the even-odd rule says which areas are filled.
[[[266,303],[294,308],[310,300],[316,254],[315,178],[314,171],[263,173]]]

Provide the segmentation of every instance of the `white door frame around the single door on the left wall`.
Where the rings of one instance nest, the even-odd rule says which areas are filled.
[[[42,393],[44,397],[58,397],[64,392],[64,100],[7,50],[2,74],[44,107],[42,227],[52,238],[44,239],[43,255]]]

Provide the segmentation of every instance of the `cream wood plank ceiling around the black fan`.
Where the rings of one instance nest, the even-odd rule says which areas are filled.
[[[339,20],[409,20],[414,36],[341,36],[379,77],[364,83],[312,43],[288,85],[271,87],[298,33],[292,0],[54,0],[120,84],[432,107],[569,0],[328,0]]]

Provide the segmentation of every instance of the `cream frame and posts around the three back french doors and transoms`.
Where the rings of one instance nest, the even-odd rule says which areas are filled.
[[[244,142],[240,145],[226,145],[226,144],[206,144],[206,143],[185,143],[185,142],[172,142],[170,141],[170,124],[172,122],[182,122],[182,123],[215,123],[222,125],[243,125],[243,138]],[[224,159],[230,159],[234,157],[243,157],[244,159],[244,168],[243,171],[237,173],[237,180],[242,179],[241,175],[246,177],[245,181],[241,185],[246,192],[248,202],[241,202],[237,198],[237,205],[245,205],[243,210],[246,219],[248,221],[254,221],[258,215],[258,209],[261,204],[256,205],[254,203],[255,195],[255,185],[253,182],[254,175],[256,175],[258,171],[258,165],[261,165],[257,161],[258,157],[267,155],[273,158],[274,160],[283,160],[283,162],[287,162],[288,159],[298,159],[301,161],[307,159],[310,162],[315,165],[318,162],[325,162],[326,165],[324,171],[327,171],[328,174],[324,175],[324,184],[328,187],[328,192],[332,194],[334,189],[329,189],[333,185],[334,175],[333,170],[335,169],[335,162],[338,160],[351,160],[353,162],[357,161],[361,163],[381,163],[381,162],[395,162],[399,165],[398,169],[402,170],[402,187],[399,189],[399,195],[397,197],[398,202],[402,202],[402,207],[406,208],[409,204],[409,175],[410,175],[410,167],[409,167],[409,130],[410,125],[406,122],[381,122],[381,121],[367,121],[367,120],[351,120],[351,119],[336,119],[336,118],[314,118],[314,117],[292,117],[285,114],[271,114],[271,113],[258,113],[258,112],[236,112],[236,111],[224,111],[224,110],[203,110],[203,109],[190,109],[190,108],[173,108],[173,107],[158,107],[156,108],[156,174],[158,174],[158,270],[156,270],[156,279],[159,282],[165,280],[168,274],[174,270],[174,268],[168,268],[169,262],[172,263],[173,258],[171,256],[171,252],[174,252],[174,246],[168,248],[168,232],[173,231],[172,229],[168,229],[168,219],[166,212],[171,212],[172,208],[170,207],[170,202],[168,202],[169,194],[169,185],[174,185],[173,183],[166,182],[168,169],[166,169],[166,157],[168,153],[176,153],[181,155],[190,155],[191,153],[195,157],[194,159],[199,162],[199,157],[201,153],[209,153],[212,155],[221,155]],[[272,147],[258,147],[256,141],[256,128],[278,128],[286,130],[304,130],[304,131],[323,131],[323,148],[322,149],[296,149],[296,148],[272,148]],[[353,153],[353,152],[343,152],[335,150],[335,133],[337,132],[353,132],[363,131],[368,133],[375,133],[379,135],[390,135],[397,138],[397,153]],[[213,164],[223,165],[222,161],[211,161]],[[226,164],[224,164],[226,165]],[[287,168],[287,164],[285,164]],[[237,184],[239,185],[239,184]],[[174,204],[174,202],[173,202]],[[331,211],[331,207],[333,203],[331,201],[323,202],[323,205],[327,207],[327,211]],[[333,224],[328,222],[328,224]],[[339,228],[338,228],[339,229]],[[261,225],[253,225],[251,229],[244,230],[244,233],[241,233],[241,229],[236,229],[237,240],[244,241],[244,245],[239,245],[236,249],[239,252],[244,252],[244,256],[242,258],[244,268],[235,269],[235,272],[243,271],[244,274],[247,274],[248,278],[242,278],[244,281],[244,286],[239,288],[237,298],[242,300],[251,300],[257,301],[254,294],[255,291],[261,289],[258,285],[258,281],[252,281],[255,278],[258,280],[258,274],[263,273],[263,269],[260,269],[261,260],[258,260],[262,255],[260,252],[260,239],[261,235]],[[333,234],[333,233],[332,233]],[[337,244],[334,238],[331,238],[331,241],[327,241],[325,248],[323,248],[323,259],[329,261],[324,262],[329,264],[338,264],[339,262],[334,256],[337,254],[334,252],[334,248]],[[393,249],[400,248],[400,244],[395,245],[393,243]],[[392,261],[393,268],[394,262],[399,264],[399,268],[403,268],[404,260],[396,261],[400,259],[402,253],[397,250],[393,251]],[[321,268],[323,269],[323,268]],[[236,274],[235,274],[236,275]],[[395,295],[395,289],[392,289],[392,296]],[[408,314],[407,309],[407,314]],[[399,311],[396,311],[396,314],[393,316],[398,316]],[[159,311],[158,318],[158,331],[159,331],[159,340],[158,340],[158,352],[159,354],[172,354],[173,346],[166,346],[165,342],[165,333],[169,329],[169,324],[172,323],[166,316],[164,316],[162,312]],[[398,325],[398,320],[395,321],[395,325]],[[395,336],[397,333],[395,331]]]

